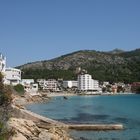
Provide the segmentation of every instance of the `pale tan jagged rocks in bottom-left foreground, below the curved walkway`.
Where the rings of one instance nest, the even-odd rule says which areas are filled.
[[[60,128],[42,129],[27,119],[10,118],[7,126],[10,131],[14,130],[10,140],[71,140]]]

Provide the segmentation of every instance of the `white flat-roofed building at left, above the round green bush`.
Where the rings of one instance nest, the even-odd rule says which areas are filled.
[[[15,68],[5,68],[4,84],[17,85],[21,82],[21,70]]]

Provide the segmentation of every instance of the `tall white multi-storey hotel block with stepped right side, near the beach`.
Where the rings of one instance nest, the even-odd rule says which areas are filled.
[[[92,79],[92,76],[89,74],[80,74],[78,75],[78,90],[80,91],[91,91],[100,90],[99,82]]]

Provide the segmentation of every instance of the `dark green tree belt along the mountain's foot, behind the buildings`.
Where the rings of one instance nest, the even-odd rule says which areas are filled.
[[[129,65],[129,64],[128,64]],[[133,65],[133,66],[132,66]],[[132,67],[133,68],[132,68]],[[85,68],[85,67],[83,67]],[[114,66],[114,65],[99,65],[98,67],[91,66],[85,68],[88,73],[92,75],[94,79],[100,81],[110,82],[125,82],[132,83],[140,81],[140,65],[131,63],[129,66]],[[77,75],[74,70],[48,70],[48,69],[23,69],[23,78],[34,78],[34,79],[58,79],[63,78],[64,80],[76,80]]]

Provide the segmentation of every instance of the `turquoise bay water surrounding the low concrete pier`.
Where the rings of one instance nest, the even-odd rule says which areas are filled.
[[[27,109],[63,122],[122,123],[121,131],[71,131],[78,140],[140,140],[140,95],[54,97]]]

